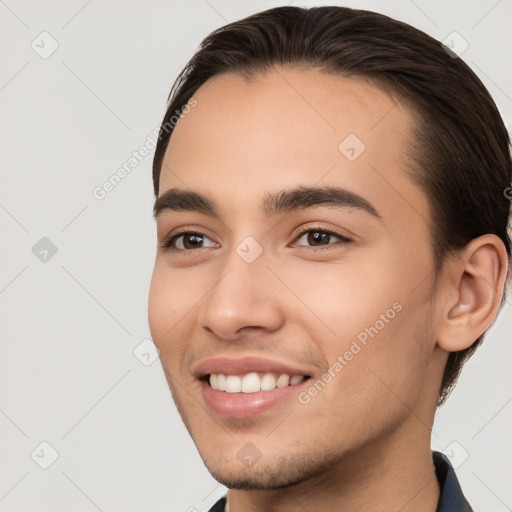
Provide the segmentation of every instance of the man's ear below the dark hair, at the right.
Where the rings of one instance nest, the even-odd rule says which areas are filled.
[[[472,240],[446,261],[437,344],[448,352],[470,347],[498,314],[508,271],[505,245],[495,235]]]

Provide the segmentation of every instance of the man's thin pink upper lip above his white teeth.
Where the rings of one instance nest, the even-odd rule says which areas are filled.
[[[196,365],[193,373],[200,379],[212,373],[224,375],[245,374],[250,372],[274,372],[287,375],[310,376],[310,373],[299,366],[282,363],[272,359],[261,357],[242,357],[238,359],[228,357],[216,357],[206,359]]]

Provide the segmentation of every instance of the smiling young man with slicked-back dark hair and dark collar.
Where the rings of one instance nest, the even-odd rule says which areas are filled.
[[[471,510],[430,434],[503,303],[508,144],[474,73],[386,16],[203,41],[156,148],[149,322],[212,511]]]

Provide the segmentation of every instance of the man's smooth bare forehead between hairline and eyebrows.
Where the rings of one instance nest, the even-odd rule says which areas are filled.
[[[332,185],[384,214],[414,203],[427,215],[426,198],[406,174],[412,115],[376,86],[276,68],[250,80],[216,76],[194,98],[170,139],[160,194],[188,188],[216,196],[227,210],[292,186]]]

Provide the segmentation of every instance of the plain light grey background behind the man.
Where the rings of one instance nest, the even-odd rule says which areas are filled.
[[[457,31],[510,125],[510,0],[333,3],[384,12],[439,40]],[[142,363],[145,345],[142,362],[133,353],[150,335],[152,152],[102,201],[92,191],[158,126],[204,36],[283,4],[0,1],[2,512],[205,511],[224,493],[159,361]],[[59,45],[48,58],[31,47],[51,49],[44,31]],[[42,237],[58,249],[46,262],[32,252]],[[511,302],[433,434],[485,512],[512,507]],[[59,454],[48,469],[43,441]]]

